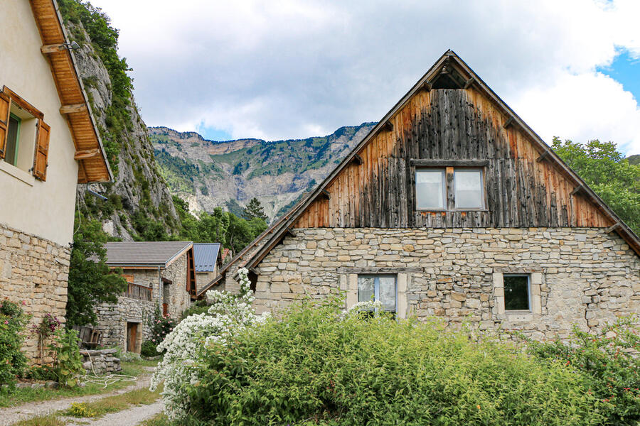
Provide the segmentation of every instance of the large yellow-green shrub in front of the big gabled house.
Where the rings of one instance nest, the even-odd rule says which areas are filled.
[[[344,315],[302,302],[226,346],[186,385],[215,425],[596,425],[585,377],[515,344],[438,322]]]

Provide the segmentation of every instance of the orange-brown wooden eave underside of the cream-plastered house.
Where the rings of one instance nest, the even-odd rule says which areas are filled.
[[[73,52],[66,48],[69,39],[58,4],[55,0],[29,1],[42,39],[43,51],[46,52],[43,55],[48,59],[55,87],[58,89],[60,113],[66,116],[73,138],[75,158],[78,161],[78,183],[109,182],[113,180],[113,173],[87,102]],[[65,47],[55,49],[51,47],[53,45]],[[95,155],[82,155],[89,152]]]

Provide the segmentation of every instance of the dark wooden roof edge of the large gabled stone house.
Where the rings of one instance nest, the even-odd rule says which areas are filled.
[[[279,241],[284,238],[287,229],[289,229],[289,227],[294,224],[296,219],[300,214],[302,214],[302,212],[304,212],[306,207],[309,207],[311,202],[314,202],[314,200],[316,200],[316,197],[319,197],[319,195],[321,195],[321,193],[326,190],[326,187],[331,184],[331,182],[338,176],[338,174],[341,173],[341,171],[346,168],[347,165],[354,161],[355,156],[361,153],[361,150],[364,148],[364,146],[366,146],[370,139],[373,138],[373,136],[375,136],[378,132],[385,131],[387,123],[390,121],[390,119],[392,119],[395,114],[398,114],[398,111],[400,111],[400,109],[405,107],[407,102],[409,102],[414,94],[416,94],[420,90],[425,89],[425,87],[431,87],[430,82],[434,80],[434,77],[437,77],[437,75],[439,75],[439,72],[440,70],[442,70],[442,67],[444,67],[444,65],[447,65],[447,67],[453,67],[462,75],[462,77],[467,82],[469,82],[469,80],[471,79],[474,79],[474,81],[472,82],[473,87],[480,89],[481,92],[483,92],[487,97],[489,97],[489,99],[491,99],[491,101],[494,102],[494,104],[498,105],[498,107],[508,117],[507,120],[511,120],[509,122],[509,126],[520,126],[523,132],[530,138],[530,141],[533,142],[534,146],[536,146],[540,150],[540,154],[545,153],[545,160],[553,163],[562,175],[572,180],[572,182],[575,182],[576,187],[582,186],[582,193],[585,195],[585,197],[587,197],[592,203],[594,203],[598,207],[598,209],[614,224],[619,224],[615,231],[622,237],[622,239],[624,239],[624,241],[626,241],[627,244],[629,244],[631,249],[633,249],[634,252],[638,256],[640,256],[640,239],[634,233],[634,231],[631,231],[629,226],[624,224],[624,222],[612,211],[612,209],[610,209],[609,206],[607,206],[607,204],[605,204],[604,201],[602,201],[602,199],[598,197],[595,192],[593,192],[589,185],[587,185],[584,180],[580,178],[580,176],[578,176],[573,170],[571,170],[569,166],[567,166],[566,163],[562,161],[562,159],[560,159],[560,157],[555,152],[553,152],[550,146],[548,146],[542,140],[542,138],[538,136],[537,133],[530,129],[530,127],[518,116],[518,114],[516,114],[515,111],[508,107],[506,102],[498,97],[498,95],[495,94],[493,90],[491,90],[491,88],[484,82],[484,80],[476,75],[474,70],[471,70],[471,67],[469,67],[469,65],[466,65],[466,62],[459,58],[459,56],[454,53],[453,50],[447,50],[447,52],[445,52],[434,63],[434,65],[432,65],[432,67],[425,73],[425,75],[423,75],[422,78],[420,78],[420,80],[418,80],[417,83],[414,84],[409,92],[407,92],[407,94],[405,94],[405,96],[402,97],[402,99],[400,99],[400,101],[398,101],[393,106],[393,108],[390,109],[390,111],[385,114],[382,119],[380,119],[380,121],[378,121],[378,124],[374,126],[373,129],[371,129],[367,136],[365,136],[365,138],[363,138],[363,140],[358,143],[358,145],[353,148],[353,150],[351,150],[351,153],[343,158],[341,163],[338,164],[338,166],[323,180],[323,182],[321,182],[316,187],[316,189],[311,192],[304,200],[302,200],[301,202],[299,202],[299,204],[289,210],[289,212],[281,220],[279,220],[279,222],[277,223],[277,229],[273,229],[270,235],[270,239],[268,239],[262,246],[262,248],[260,248],[260,250],[258,250],[255,255],[252,256],[250,261],[245,263],[245,266],[256,267],[260,263],[260,261],[262,261],[262,258],[264,258],[267,253],[269,253],[269,251],[271,251],[271,249],[273,249],[273,247],[276,246]]]

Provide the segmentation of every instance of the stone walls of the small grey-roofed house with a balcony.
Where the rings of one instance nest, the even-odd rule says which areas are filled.
[[[96,307],[98,324],[95,328],[102,331],[103,346],[118,346],[125,350],[127,349],[127,322],[138,323],[138,333],[144,342],[151,337],[149,318],[154,316],[156,307],[161,308],[158,300],[157,269],[124,269],[123,273],[133,275],[135,284],[151,288],[151,301],[120,296],[116,304],[98,305]],[[164,302],[169,303],[169,315],[173,318],[179,319],[182,312],[191,305],[191,297],[186,291],[186,274],[186,253],[160,271],[161,278],[172,282],[169,285],[169,300]]]

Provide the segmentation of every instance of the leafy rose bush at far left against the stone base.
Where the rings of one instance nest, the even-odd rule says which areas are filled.
[[[28,316],[17,303],[0,302],[0,385],[14,386],[26,367],[21,351]]]

